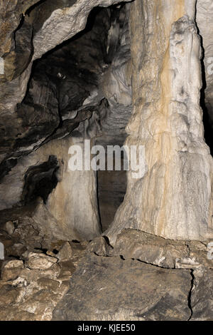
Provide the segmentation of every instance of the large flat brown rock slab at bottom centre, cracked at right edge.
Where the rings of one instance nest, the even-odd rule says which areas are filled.
[[[187,320],[190,270],[120,257],[84,257],[53,320]]]

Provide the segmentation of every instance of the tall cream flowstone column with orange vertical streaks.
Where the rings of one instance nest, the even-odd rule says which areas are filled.
[[[213,237],[212,167],[204,143],[195,0],[136,0],[131,9],[133,114],[126,145],[144,145],[107,235],[124,228],[170,239]]]

